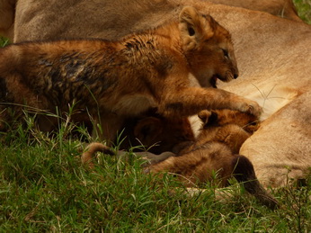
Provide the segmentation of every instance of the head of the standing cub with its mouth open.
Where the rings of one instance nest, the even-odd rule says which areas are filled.
[[[190,72],[203,87],[216,87],[217,79],[229,82],[238,76],[230,33],[209,15],[191,6],[179,15],[182,50]]]

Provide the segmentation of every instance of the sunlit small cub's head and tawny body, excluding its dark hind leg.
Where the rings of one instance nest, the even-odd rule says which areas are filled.
[[[213,171],[220,171],[225,185],[233,172],[233,167],[228,164],[234,154],[238,154],[245,139],[256,130],[251,125],[257,119],[250,114],[230,110],[202,111],[199,116],[202,123],[198,138],[190,146],[182,148],[177,157],[150,166],[150,170],[183,175],[186,181],[191,181],[190,184],[196,184],[197,180],[204,183],[211,178]],[[249,129],[245,130],[247,127]]]

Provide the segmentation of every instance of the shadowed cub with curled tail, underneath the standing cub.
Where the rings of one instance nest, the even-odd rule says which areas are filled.
[[[175,156],[195,140],[187,118],[168,119],[154,111],[127,119],[123,127],[119,139],[114,142],[120,149],[117,156],[123,156],[130,149],[138,157],[145,157],[150,164]],[[93,142],[84,149],[82,163],[93,168],[92,160],[97,152],[113,154],[111,148]]]

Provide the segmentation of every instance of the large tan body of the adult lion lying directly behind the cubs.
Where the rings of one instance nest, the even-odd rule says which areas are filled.
[[[49,1],[20,0],[15,41],[84,36],[119,40],[133,31],[146,30],[176,17],[184,4],[194,5],[226,26],[235,42],[240,76],[229,85],[218,86],[260,101],[263,106],[262,119],[266,120],[244,142],[241,154],[251,159],[264,185],[282,186],[290,178],[304,177],[311,166],[309,25],[200,0],[137,0],[129,4],[104,1],[107,5],[102,7],[84,2],[87,6],[70,1],[71,5],[62,8]],[[152,6],[146,6],[146,2]]]

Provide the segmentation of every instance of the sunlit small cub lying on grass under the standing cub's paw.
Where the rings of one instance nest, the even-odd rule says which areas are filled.
[[[215,172],[221,186],[233,176],[260,202],[275,208],[278,202],[258,182],[250,160],[237,155],[244,140],[257,130],[256,117],[230,110],[202,111],[199,117],[203,124],[198,139],[176,157],[148,166],[146,171],[176,174],[189,187],[212,181]]]

